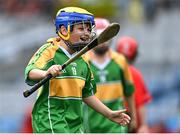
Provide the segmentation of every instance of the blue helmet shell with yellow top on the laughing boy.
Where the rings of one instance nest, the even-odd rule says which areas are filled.
[[[56,14],[56,32],[58,33],[58,30],[62,25],[64,25],[68,32],[70,32],[70,26],[78,22],[88,22],[91,24],[91,26],[95,25],[93,14],[87,10],[78,7],[62,8]]]

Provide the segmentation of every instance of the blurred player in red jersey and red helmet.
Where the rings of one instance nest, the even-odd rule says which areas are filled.
[[[151,95],[144,83],[141,72],[135,68],[133,63],[138,55],[138,43],[137,41],[128,36],[119,38],[116,45],[116,50],[120,54],[123,54],[128,62],[129,69],[131,71],[133,82],[135,85],[135,103],[137,110],[137,132],[148,133],[148,126],[146,123],[146,108],[145,105],[151,101]]]

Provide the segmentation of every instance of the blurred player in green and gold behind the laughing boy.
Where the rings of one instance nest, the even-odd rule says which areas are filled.
[[[104,18],[96,18],[96,33],[100,34],[109,21]],[[135,104],[133,98],[134,86],[128,70],[128,64],[123,55],[109,48],[110,42],[105,42],[86,56],[97,84],[95,94],[110,109],[124,109],[124,101],[127,99],[131,117],[131,129],[136,128]],[[90,107],[85,105],[85,129],[88,133],[120,133],[127,132],[127,127],[119,126]]]

